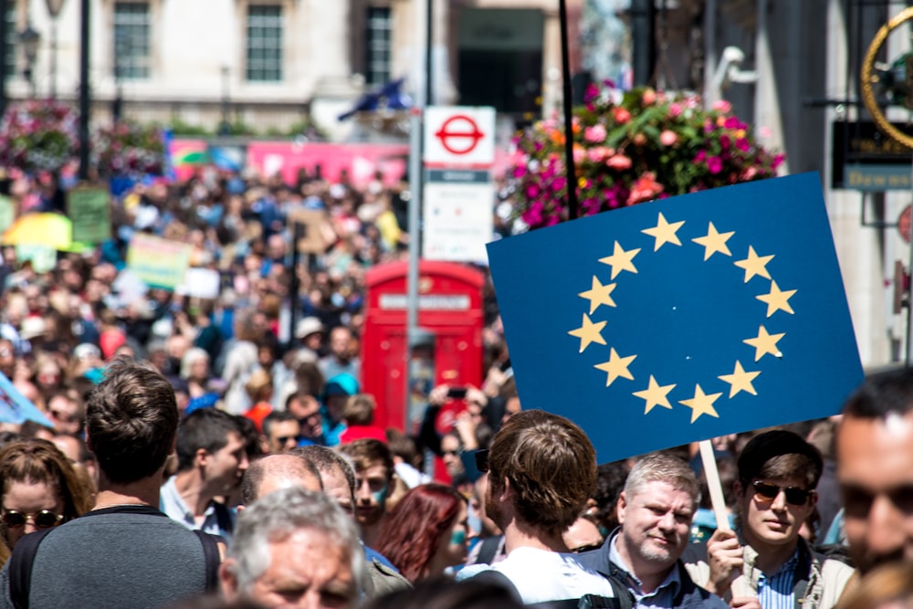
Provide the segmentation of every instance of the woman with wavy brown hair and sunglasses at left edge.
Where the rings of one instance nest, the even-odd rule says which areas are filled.
[[[0,449],[0,563],[26,533],[50,529],[92,507],[89,488],[67,457],[46,440]]]

